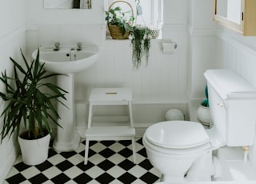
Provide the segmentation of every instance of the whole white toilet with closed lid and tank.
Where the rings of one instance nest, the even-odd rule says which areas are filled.
[[[158,122],[143,136],[151,164],[163,174],[162,182],[210,180],[212,150],[254,143],[256,89],[234,70],[207,70],[205,77],[211,129],[198,122]]]

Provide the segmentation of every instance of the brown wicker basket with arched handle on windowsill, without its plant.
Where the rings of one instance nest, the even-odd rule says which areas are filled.
[[[131,10],[131,14],[132,16],[134,17],[134,10],[132,8],[132,6],[130,5],[130,3],[128,2],[124,2],[124,1],[116,1],[116,2],[113,2],[110,7],[109,7],[109,10],[112,8],[112,6],[114,6],[115,3],[117,2],[123,2],[123,3],[126,3],[128,6],[130,6],[130,10]],[[109,21],[107,21],[107,26],[110,30],[110,36],[111,38],[113,39],[128,39],[129,38],[129,35],[130,35],[130,30],[126,30],[126,33],[122,35],[122,28],[117,26],[117,25],[112,25],[109,23]]]

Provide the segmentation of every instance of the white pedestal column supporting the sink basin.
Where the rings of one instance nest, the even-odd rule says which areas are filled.
[[[68,91],[66,101],[58,102],[57,137],[54,140],[54,150],[71,151],[76,150],[80,143],[80,136],[76,130],[75,111],[74,111],[74,74],[59,75],[57,84],[63,90]]]

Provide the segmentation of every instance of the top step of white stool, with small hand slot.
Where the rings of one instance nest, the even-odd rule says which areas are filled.
[[[132,101],[130,88],[94,88],[89,101]]]

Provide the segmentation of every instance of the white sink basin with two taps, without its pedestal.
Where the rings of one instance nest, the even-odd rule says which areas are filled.
[[[75,46],[62,46],[58,51],[54,51],[53,46],[42,46],[39,49],[39,62],[45,63],[45,70],[57,74],[86,70],[98,60],[99,55],[98,46],[82,46],[82,50],[76,50]],[[37,53],[38,50],[34,50],[32,57],[36,58]]]

